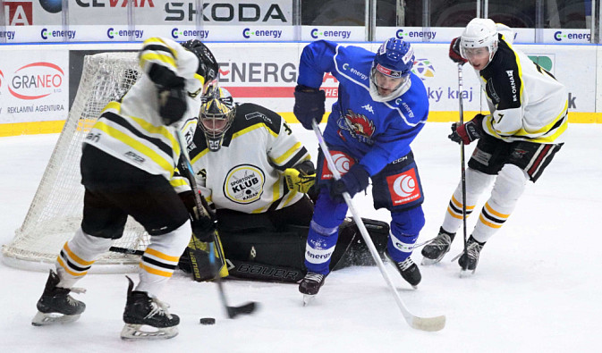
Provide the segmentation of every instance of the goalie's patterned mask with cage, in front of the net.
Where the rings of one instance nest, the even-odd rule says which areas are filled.
[[[233,97],[225,88],[210,88],[208,95],[201,98],[199,126],[205,133],[209,151],[222,147],[225,131],[232,125],[235,114]]]

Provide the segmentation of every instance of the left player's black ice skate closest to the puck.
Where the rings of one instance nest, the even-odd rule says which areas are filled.
[[[127,277],[127,276],[126,276]],[[123,311],[125,325],[123,340],[165,340],[178,334],[178,315],[170,315],[167,305],[157,298],[148,297],[147,292],[132,290],[134,283],[127,277],[128,298]],[[145,330],[145,327],[151,330]]]

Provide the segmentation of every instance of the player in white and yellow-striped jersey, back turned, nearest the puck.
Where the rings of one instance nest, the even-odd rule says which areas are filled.
[[[128,278],[123,312],[126,340],[171,338],[179,317],[170,314],[157,297],[172,276],[191,231],[203,233],[209,220],[193,219],[178,193],[190,189],[177,173],[181,149],[175,137],[182,118],[198,112],[208,82],[215,80],[217,63],[198,40],[182,45],[149,38],[139,54],[144,72],[122,97],[102,111],[89,131],[81,156],[85,187],[83,220],[72,240],[56,258],[46,288],[38,300],[32,324],[74,321],[85,309],[70,296],[73,288],[112,240],[123,235],[131,215],[151,236],[140,260],[140,282]],[[155,330],[142,330],[142,325]]]

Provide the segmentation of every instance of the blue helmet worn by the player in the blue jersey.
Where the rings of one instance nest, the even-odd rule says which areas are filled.
[[[373,69],[392,78],[408,75],[414,65],[414,48],[398,38],[388,38],[374,57]]]

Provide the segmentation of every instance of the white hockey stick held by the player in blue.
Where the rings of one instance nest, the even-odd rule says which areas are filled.
[[[316,133],[316,138],[318,138],[318,144],[322,148],[322,152],[324,153],[324,156],[326,157],[328,169],[330,169],[330,172],[333,173],[333,177],[335,178],[335,180],[338,181],[339,179],[341,179],[341,173],[336,169],[335,162],[333,161],[333,157],[332,157],[332,155],[330,155],[330,150],[326,146],[326,142],[324,142],[324,136],[322,136],[322,132],[318,128],[318,123],[316,123],[315,121],[311,122],[311,127],[313,128],[314,132]],[[353,206],[352,198],[349,196],[348,192],[343,192],[343,199],[345,200],[345,203],[349,207],[349,211],[352,213],[353,220],[355,221],[356,225],[358,226],[361,237],[364,239],[366,246],[368,246],[368,248],[370,250],[370,254],[372,255],[372,258],[377,263],[380,273],[383,275],[383,278],[385,278],[386,284],[388,284],[389,288],[391,289],[391,291],[394,295],[394,298],[395,298],[395,302],[397,303],[397,306],[402,310],[403,318],[405,319],[405,321],[408,324],[410,324],[410,326],[412,328],[417,329],[417,330],[422,330],[422,331],[442,330],[445,327],[445,315],[440,315],[440,316],[435,316],[435,317],[420,317],[420,316],[411,314],[411,312],[408,310],[408,308],[405,307],[405,305],[403,304],[402,298],[399,297],[399,293],[397,293],[397,290],[395,290],[394,284],[391,281],[391,278],[389,277],[388,273],[386,272],[383,261],[380,259],[380,256],[378,256],[377,248],[374,246],[372,239],[370,239],[368,230],[366,230],[366,226],[364,225],[364,222],[361,220],[360,215],[355,210],[355,206]]]

